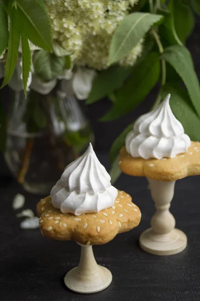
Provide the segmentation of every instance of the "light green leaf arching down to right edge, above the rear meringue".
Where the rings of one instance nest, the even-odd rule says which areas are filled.
[[[200,89],[189,51],[184,46],[170,46],[164,50],[161,59],[167,61],[182,78],[196,113],[200,117]]]

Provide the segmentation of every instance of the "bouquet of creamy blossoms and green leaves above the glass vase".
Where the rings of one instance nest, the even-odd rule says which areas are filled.
[[[199,83],[184,46],[194,14],[200,14],[198,0],[0,0],[2,87],[16,83],[17,62],[25,97],[29,89],[55,88],[58,80],[67,80],[64,92],[68,86],[87,104],[105,96],[112,101],[102,121],[130,112],[158,87],[154,106],[170,93],[174,115],[200,140],[193,132],[200,126]],[[0,124],[3,140],[1,106]],[[115,179],[130,126],[110,150]]]

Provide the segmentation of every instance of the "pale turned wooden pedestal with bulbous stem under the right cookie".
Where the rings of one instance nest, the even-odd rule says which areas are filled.
[[[187,237],[182,231],[174,228],[175,219],[169,212],[175,181],[148,181],[156,213],[151,219],[152,228],[140,235],[139,244],[144,251],[155,255],[179,253],[186,247]]]

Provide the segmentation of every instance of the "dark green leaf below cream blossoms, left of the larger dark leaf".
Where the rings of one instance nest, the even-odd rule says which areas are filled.
[[[118,89],[130,75],[132,67],[111,66],[94,79],[87,104],[93,103]]]

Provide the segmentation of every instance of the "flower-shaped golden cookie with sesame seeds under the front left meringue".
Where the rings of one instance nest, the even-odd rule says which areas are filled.
[[[40,228],[44,236],[58,240],[75,240],[82,244],[104,244],[118,233],[138,226],[141,213],[130,195],[118,191],[113,207],[99,213],[75,216],[55,209],[51,197],[37,204]]]

